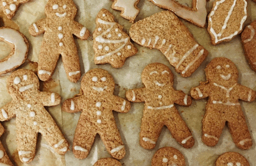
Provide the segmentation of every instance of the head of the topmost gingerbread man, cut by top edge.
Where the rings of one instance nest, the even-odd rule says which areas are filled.
[[[72,0],[49,0],[45,6],[45,13],[48,18],[74,20],[77,14],[76,5]]]

